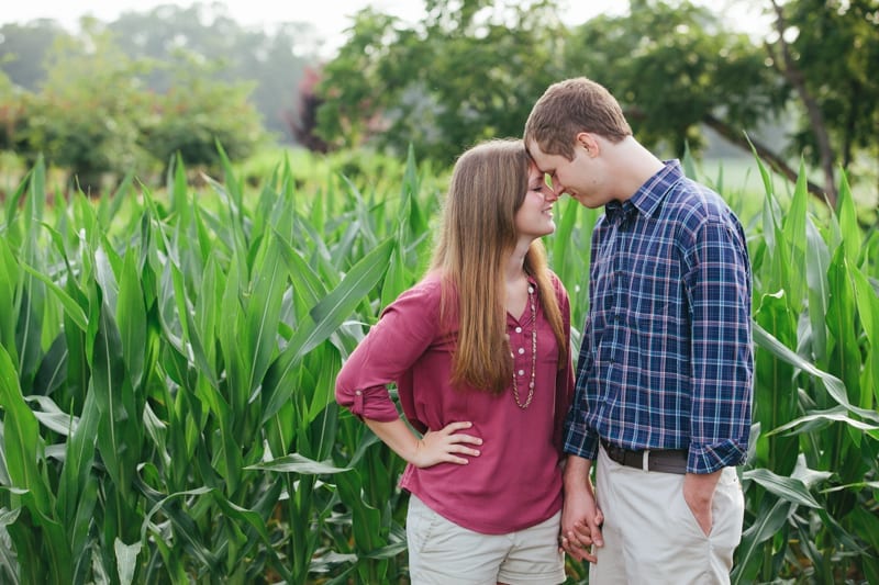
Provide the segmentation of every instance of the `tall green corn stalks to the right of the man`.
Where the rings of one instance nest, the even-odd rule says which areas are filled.
[[[783,210],[760,171],[767,198],[752,237],[755,440],[733,581],[872,578],[879,550],[864,528],[879,513],[876,268],[845,179],[836,213],[820,225],[803,169]]]

